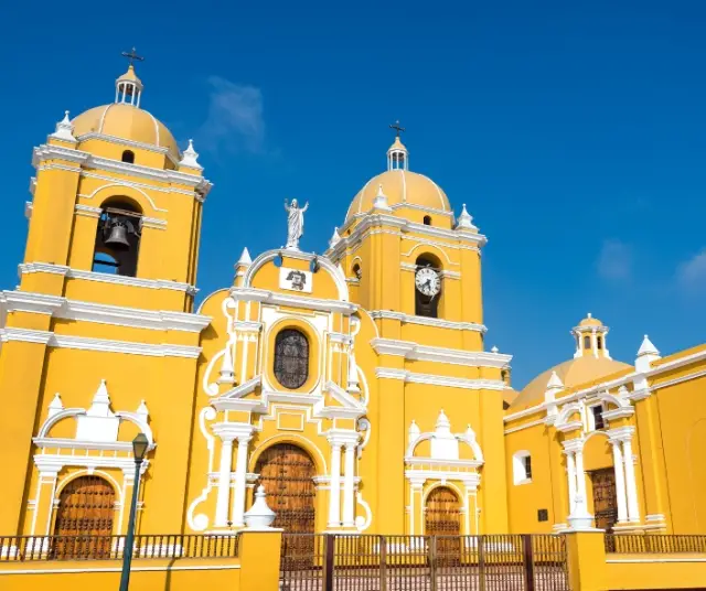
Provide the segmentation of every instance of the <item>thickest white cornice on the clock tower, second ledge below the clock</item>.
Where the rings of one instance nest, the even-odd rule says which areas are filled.
[[[439,362],[467,367],[499,367],[510,365],[512,355],[485,353],[483,351],[462,351],[458,348],[432,347],[411,341],[394,339],[373,339],[371,346],[378,355],[397,355],[409,361]]]

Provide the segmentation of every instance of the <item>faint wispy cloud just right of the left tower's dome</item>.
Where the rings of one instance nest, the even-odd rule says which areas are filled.
[[[259,88],[208,78],[208,114],[197,132],[199,148],[211,152],[261,152],[265,144],[263,94]]]

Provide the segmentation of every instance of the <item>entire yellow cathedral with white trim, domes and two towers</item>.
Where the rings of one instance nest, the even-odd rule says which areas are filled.
[[[325,254],[285,202],[287,245],[196,308],[212,184],[142,90],[130,65],[34,149],[0,292],[0,535],[125,534],[140,432],[138,534],[237,533],[260,484],[287,531],[706,533],[706,344],[621,363],[588,314],[515,391],[484,343],[486,238],[399,130]]]

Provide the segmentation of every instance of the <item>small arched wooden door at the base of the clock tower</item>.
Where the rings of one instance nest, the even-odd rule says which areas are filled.
[[[459,497],[448,486],[439,486],[427,496],[425,534],[440,536],[437,537],[439,563],[450,565],[460,560],[461,504]]]

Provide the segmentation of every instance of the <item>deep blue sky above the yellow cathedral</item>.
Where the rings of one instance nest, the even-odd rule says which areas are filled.
[[[706,335],[706,4],[591,2],[13,3],[1,30],[0,284],[26,234],[32,147],[65,109],[109,103],[120,51],[147,61],[143,107],[195,139],[215,187],[199,287],[244,246],[285,241],[309,201],[323,251],[400,119],[411,169],[481,232],[488,346],[514,385],[569,358],[590,311],[613,357]]]

